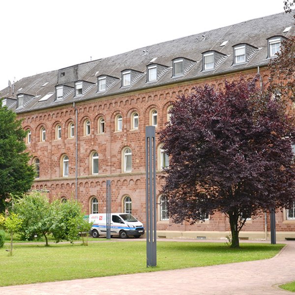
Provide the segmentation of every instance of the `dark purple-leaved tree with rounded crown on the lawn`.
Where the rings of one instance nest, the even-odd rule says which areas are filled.
[[[229,218],[232,247],[248,217],[295,199],[295,126],[285,103],[258,88],[257,78],[198,86],[173,104],[160,132],[170,157],[163,194],[174,222],[205,214]]]

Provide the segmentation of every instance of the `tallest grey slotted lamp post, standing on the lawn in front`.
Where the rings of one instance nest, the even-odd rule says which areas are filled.
[[[157,265],[155,127],[146,126],[147,267]]]

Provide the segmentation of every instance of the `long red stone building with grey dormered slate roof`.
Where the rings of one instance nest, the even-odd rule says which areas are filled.
[[[171,103],[197,84],[221,85],[225,78],[259,72],[281,42],[295,34],[290,14],[136,49],[117,56],[26,77],[0,91],[2,103],[23,119],[36,169],[33,190],[50,200],[77,199],[85,211],[105,212],[106,180],[112,211],[132,212],[145,222],[145,127],[160,130]],[[157,174],[169,159],[157,141]],[[167,216],[157,178],[158,236],[224,238],[223,214],[203,223],[174,224]],[[295,207],[276,214],[277,238],[295,237]],[[269,216],[246,222],[244,238],[269,238]]]

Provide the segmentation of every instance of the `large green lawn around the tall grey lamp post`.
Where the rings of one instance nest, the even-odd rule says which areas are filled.
[[[145,240],[50,247],[18,243],[12,257],[5,246],[0,249],[0,286],[267,259],[283,246],[244,243],[236,250],[223,243],[157,242],[157,266],[147,268]]]

